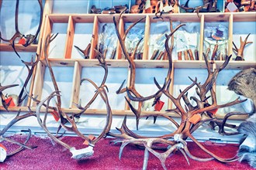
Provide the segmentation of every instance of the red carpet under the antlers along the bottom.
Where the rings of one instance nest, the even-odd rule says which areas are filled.
[[[25,140],[24,136],[16,135],[16,141]],[[112,138],[102,139],[95,146],[95,153],[91,158],[74,160],[71,153],[60,145],[52,144],[49,138],[38,138],[33,136],[28,145],[37,145],[33,150],[23,150],[11,158],[5,159],[4,163],[0,163],[0,169],[142,169],[144,150],[126,146],[123,150],[121,160],[119,160],[119,144],[109,145]],[[75,146],[76,148],[84,148],[81,138],[64,137],[62,141]],[[16,145],[2,142],[5,147],[11,151]],[[188,143],[189,149],[195,156],[206,158],[207,155],[197,148],[192,142]],[[16,147],[17,148],[17,147]],[[226,146],[207,146],[222,158],[230,158],[236,155],[238,145]],[[167,159],[166,166],[168,169],[253,169],[245,162],[221,163],[215,160],[211,162],[196,162],[189,158],[190,165],[185,161],[184,156],[179,151]],[[150,154],[147,169],[163,169],[160,161]]]

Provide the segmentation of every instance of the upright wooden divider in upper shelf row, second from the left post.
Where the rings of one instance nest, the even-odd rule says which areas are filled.
[[[97,15],[94,17],[94,22],[93,22],[93,30],[92,30],[92,44],[91,44],[91,49],[90,49],[90,59],[95,59],[95,50],[96,46],[98,45],[98,34],[99,34],[99,19]]]

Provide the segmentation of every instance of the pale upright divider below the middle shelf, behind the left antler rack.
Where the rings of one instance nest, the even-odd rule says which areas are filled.
[[[71,103],[70,108],[76,108],[74,104],[79,103],[79,92],[80,92],[80,82],[81,82],[81,66],[78,62],[74,63],[74,74],[73,74],[73,85],[71,90]]]

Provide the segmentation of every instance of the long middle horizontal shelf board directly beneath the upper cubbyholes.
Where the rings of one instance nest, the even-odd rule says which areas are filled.
[[[81,66],[99,66],[98,59],[49,59],[51,66],[74,66],[75,62],[78,62]],[[44,60],[42,60],[43,63]],[[168,68],[168,60],[145,60],[134,59],[137,68]],[[216,63],[219,68],[224,61],[209,61],[209,64]],[[129,66],[126,59],[106,59],[106,63],[109,67],[123,67]],[[203,60],[174,60],[175,69],[206,69],[205,61]],[[247,69],[255,67],[254,61],[230,61],[226,69]]]

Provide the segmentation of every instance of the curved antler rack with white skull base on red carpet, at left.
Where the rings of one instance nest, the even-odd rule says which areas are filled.
[[[111,123],[112,123],[112,110],[109,106],[109,100],[108,100],[108,97],[107,97],[106,90],[104,89],[106,87],[106,85],[104,83],[106,82],[106,76],[107,76],[107,73],[108,73],[107,72],[106,61],[104,59],[103,60],[99,59],[100,65],[102,65],[104,67],[104,69],[106,70],[106,75],[104,76],[104,79],[103,79],[102,84],[101,84],[100,87],[98,87],[94,82],[92,82],[92,80],[85,79],[89,83],[92,83],[92,85],[96,88],[96,90],[97,90],[96,94],[97,95],[100,94],[100,96],[102,97],[102,100],[106,103],[106,108],[107,108],[107,118],[106,118],[105,128],[103,129],[102,133],[99,134],[99,136],[97,138],[91,139],[91,138],[88,138],[87,136],[85,136],[84,134],[81,134],[80,131],[78,131],[78,127],[77,127],[77,124],[76,124],[75,119],[74,119],[74,114],[72,114],[71,117],[69,117],[61,109],[61,93],[60,93],[59,88],[57,86],[57,81],[55,80],[54,71],[53,71],[53,69],[50,65],[50,62],[48,60],[48,57],[47,57],[47,50],[48,50],[48,47],[50,45],[50,42],[52,42],[56,38],[56,36],[57,35],[52,35],[52,36],[48,35],[47,39],[45,41],[45,45],[44,45],[44,56],[45,56],[47,67],[50,71],[50,77],[51,77],[52,82],[54,84],[54,92],[51,93],[49,97],[47,97],[46,99],[41,100],[41,101],[36,100],[36,98],[32,97],[33,100],[35,100],[37,103],[39,102],[37,104],[37,107],[36,107],[36,117],[37,117],[37,121],[39,122],[40,126],[44,129],[44,131],[47,132],[47,134],[50,138],[52,138],[58,144],[63,145],[65,148],[67,148],[71,151],[71,153],[73,154],[72,158],[85,158],[85,157],[91,156],[93,154],[93,147],[94,147],[95,143],[97,143],[101,138],[105,137],[106,133],[109,132],[110,127],[111,127]],[[85,141],[88,141],[88,148],[76,150],[75,148],[71,147],[70,145],[67,145],[66,143],[64,143],[63,141],[58,139],[56,136],[51,134],[50,131],[48,131],[47,123],[46,123],[47,114],[49,113],[50,100],[54,97],[57,97],[56,107],[51,107],[51,108],[54,109],[57,112],[59,117],[61,117],[61,123],[60,123],[60,126],[59,126],[58,130],[57,130],[57,133],[61,128],[64,128],[67,131],[72,131],[75,134],[77,134],[80,138],[84,139]],[[47,103],[47,104],[45,104],[45,103]],[[40,118],[40,109],[41,109],[42,106],[46,107],[43,121],[41,121],[41,118]],[[86,110],[86,108],[83,108],[83,110],[81,111],[80,114],[82,114],[85,110]],[[66,125],[67,123],[71,124],[71,126],[67,126]]]

